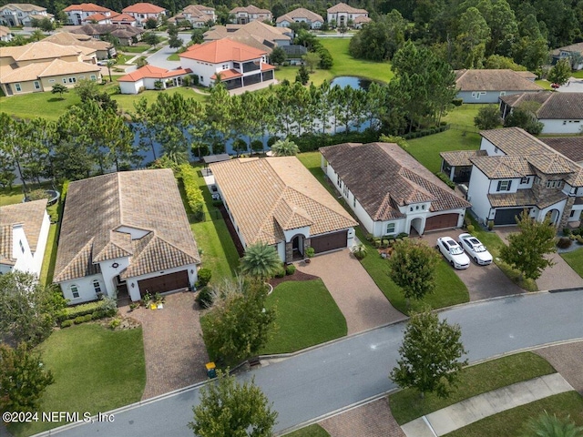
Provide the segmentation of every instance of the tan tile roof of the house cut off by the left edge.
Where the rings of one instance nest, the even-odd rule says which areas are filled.
[[[15,205],[7,205],[0,208],[0,226],[10,227],[10,235],[12,239],[12,225],[22,223],[25,230],[26,239],[30,249],[34,252],[36,244],[38,244],[38,236],[40,229],[43,226],[43,219],[45,219],[46,212],[46,198],[35,200],[32,202],[17,203]],[[5,252],[4,243],[0,244],[0,259],[9,253],[12,256],[12,244],[10,251]]]

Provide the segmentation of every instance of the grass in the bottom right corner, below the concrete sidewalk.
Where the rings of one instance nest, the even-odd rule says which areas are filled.
[[[499,412],[486,417],[481,421],[445,434],[447,437],[499,437],[503,435],[534,435],[528,433],[528,422],[547,412],[557,414],[557,417],[565,418],[583,425],[583,398],[577,391],[549,396],[540,401],[534,401],[520,407]],[[557,434],[559,435],[559,434]],[[560,434],[562,435],[562,434]],[[565,434],[567,435],[567,434]]]

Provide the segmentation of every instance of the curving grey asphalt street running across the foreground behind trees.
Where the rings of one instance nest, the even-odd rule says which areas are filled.
[[[536,293],[471,303],[441,313],[462,327],[469,361],[478,361],[559,340],[583,338],[583,290]],[[285,361],[250,371],[240,378],[256,383],[279,412],[276,431],[394,388],[387,375],[394,367],[404,323],[371,330]],[[192,432],[192,405],[199,388],[180,392],[127,411],[114,422],[72,427],[59,436],[184,436]],[[52,434],[51,434],[52,435]]]

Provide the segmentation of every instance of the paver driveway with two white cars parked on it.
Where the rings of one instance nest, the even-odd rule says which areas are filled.
[[[464,229],[442,230],[425,234],[424,239],[427,244],[435,247],[435,242],[439,237],[445,235],[458,240],[460,234],[465,233]],[[465,270],[455,269],[455,274],[462,279],[470,294],[470,301],[509,296],[511,294],[524,293],[514,282],[498,269],[495,263],[489,266],[478,266],[474,261],[470,261],[470,267]]]

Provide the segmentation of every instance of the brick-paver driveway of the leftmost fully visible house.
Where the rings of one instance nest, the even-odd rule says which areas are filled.
[[[146,389],[142,401],[207,378],[209,355],[202,340],[195,294],[166,296],[163,310],[139,308],[121,313],[142,324],[146,355]]]

